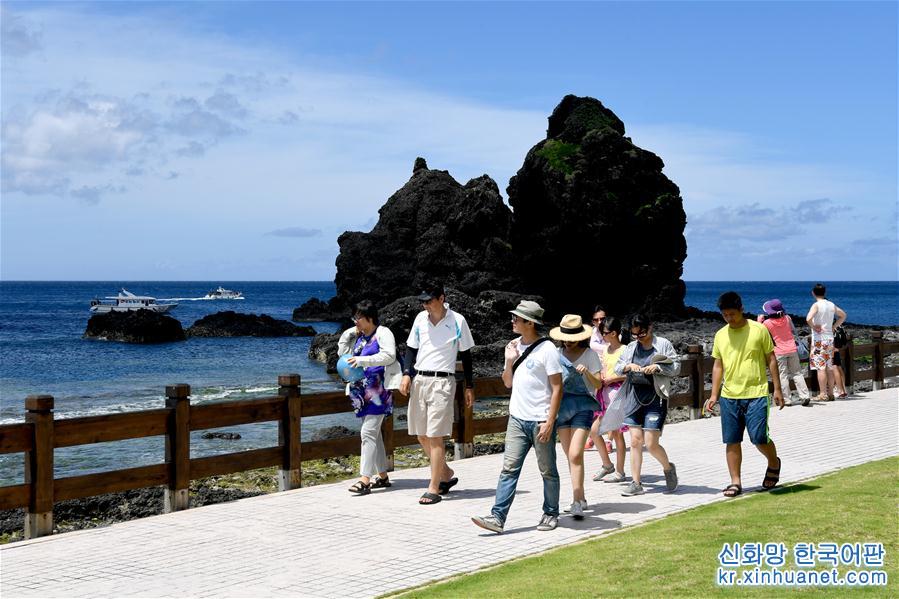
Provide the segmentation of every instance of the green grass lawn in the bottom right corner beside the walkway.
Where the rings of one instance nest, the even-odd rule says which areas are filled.
[[[899,596],[899,458],[805,483],[694,508],[645,525],[515,560],[411,597],[896,597]],[[551,534],[551,533],[547,533]],[[717,586],[724,543],[876,542],[887,587]],[[767,568],[766,566],[762,566]],[[814,569],[830,566],[818,564]],[[841,574],[854,566],[839,566]],[[751,568],[747,568],[751,569]],[[859,570],[865,567],[857,568]]]

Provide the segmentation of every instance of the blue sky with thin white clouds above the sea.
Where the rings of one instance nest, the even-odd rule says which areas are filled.
[[[894,2],[2,3],[0,277],[323,280],[416,156],[505,194],[568,93],[687,280],[897,278]]]

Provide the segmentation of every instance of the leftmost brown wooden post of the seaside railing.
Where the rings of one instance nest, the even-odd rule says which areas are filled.
[[[53,532],[53,396],[25,398],[25,422],[34,426],[34,449],[25,452],[25,484],[30,485],[25,538]]]

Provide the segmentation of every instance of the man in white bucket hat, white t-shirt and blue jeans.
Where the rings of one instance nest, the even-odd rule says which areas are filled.
[[[543,308],[522,301],[512,313],[512,331],[521,335],[506,346],[503,382],[512,389],[503,470],[496,486],[496,501],[489,516],[471,520],[481,528],[500,533],[521,466],[531,447],[543,476],[543,516],[537,530],[553,530],[559,523],[559,471],[556,469],[556,415],[562,401],[562,365],[555,345],[537,334],[543,324]]]

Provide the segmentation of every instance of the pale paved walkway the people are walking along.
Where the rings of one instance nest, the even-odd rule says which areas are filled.
[[[899,391],[791,407],[775,414],[772,437],[782,482],[817,476],[899,453]],[[864,430],[864,442],[841,431]],[[416,503],[426,470],[394,473],[392,489],[352,496],[347,483],[275,493],[145,518],[107,528],[23,541],[0,549],[4,597],[349,597],[419,585],[489,564],[721,500],[728,482],[717,419],[668,427],[663,437],[680,489],[663,494],[661,468],[644,460],[647,494],[621,497],[619,485],[587,483],[590,510],[537,532],[542,486],[533,454],[522,472],[502,535],[469,517],[492,505],[502,456],[453,463],[460,479],[448,499]],[[748,446],[744,487],[761,483],[765,463]],[[599,465],[588,452],[588,471]],[[559,455],[562,503],[570,501]],[[627,471],[630,471],[628,463]]]

